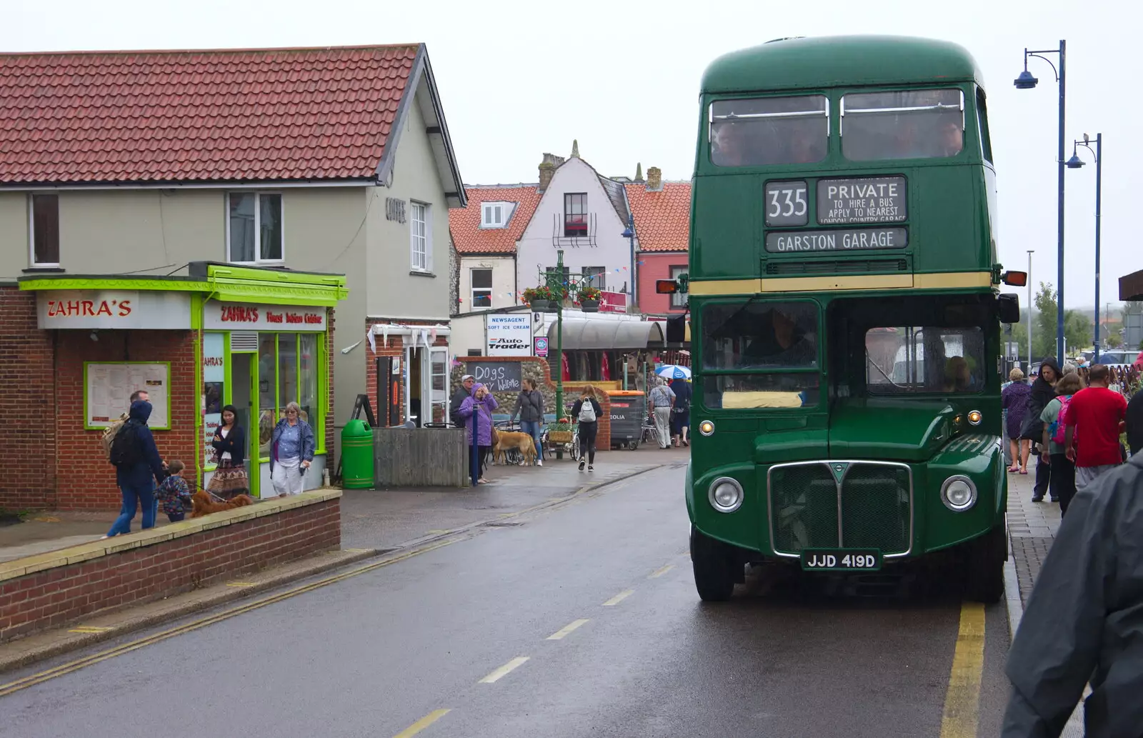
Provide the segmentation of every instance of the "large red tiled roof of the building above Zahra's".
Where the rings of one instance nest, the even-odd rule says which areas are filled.
[[[371,177],[421,45],[0,55],[0,182]]]

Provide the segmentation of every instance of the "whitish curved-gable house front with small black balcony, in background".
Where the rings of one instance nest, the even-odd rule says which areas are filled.
[[[563,249],[563,265],[572,272],[585,266],[607,267],[607,289],[621,290],[623,283],[630,281],[629,271],[624,267],[631,263],[631,248],[628,240],[620,235],[626,224],[620,220],[596,171],[578,158],[568,159],[555,170],[531,222],[517,242],[520,290],[538,284],[537,264],[555,266],[558,247],[552,244],[552,218],[559,218],[562,235],[563,194],[568,192],[588,193],[588,211],[596,216],[596,246],[559,247]]]

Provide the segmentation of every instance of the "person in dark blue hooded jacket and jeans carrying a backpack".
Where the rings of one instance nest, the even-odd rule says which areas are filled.
[[[115,483],[122,494],[122,506],[104,538],[131,532],[136,508],[143,511],[143,530],[154,528],[154,489],[166,476],[154,435],[146,426],[151,403],[136,400],[127,416],[127,422],[111,443],[111,463],[115,465]]]

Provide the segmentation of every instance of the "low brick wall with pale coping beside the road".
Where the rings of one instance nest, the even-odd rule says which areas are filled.
[[[341,490],[0,563],[0,643],[341,547]]]

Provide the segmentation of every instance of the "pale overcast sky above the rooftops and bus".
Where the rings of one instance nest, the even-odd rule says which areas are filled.
[[[734,49],[789,35],[894,33],[964,45],[984,71],[1000,201],[1000,257],[1056,281],[1056,101],[1052,69],[1016,90],[1024,47],[1068,40],[1068,152],[1103,133],[1103,286],[1143,270],[1129,177],[1143,171],[1129,0],[570,3],[359,0],[6,0],[3,50],[342,46],[424,41],[467,184],[535,182],[543,152],[572,139],[605,175],[636,162],[689,179],[703,69]],[[15,11],[13,11],[13,8]],[[1084,16],[1080,17],[1079,14]],[[1055,56],[1052,57],[1055,61]],[[1090,162],[1090,155],[1087,154]],[[1094,302],[1095,167],[1068,170],[1065,304]],[[1140,211],[1136,210],[1136,214]],[[1136,231],[1132,228],[1135,227]],[[1023,300],[1022,300],[1023,303]]]

